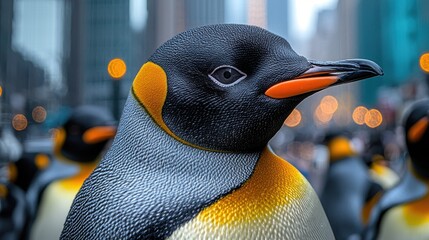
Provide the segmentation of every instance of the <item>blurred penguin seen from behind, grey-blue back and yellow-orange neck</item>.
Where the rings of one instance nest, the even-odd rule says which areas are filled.
[[[336,239],[358,237],[363,230],[362,210],[371,185],[368,168],[347,133],[329,133],[324,142],[330,166],[320,201]]]

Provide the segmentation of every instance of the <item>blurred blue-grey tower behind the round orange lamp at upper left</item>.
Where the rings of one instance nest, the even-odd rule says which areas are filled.
[[[64,1],[65,103],[72,107],[93,104],[108,109],[119,104],[122,109],[136,73],[129,1]],[[113,58],[121,58],[127,64],[127,73],[120,80],[119,101],[113,97],[113,88],[117,86],[107,72]]]

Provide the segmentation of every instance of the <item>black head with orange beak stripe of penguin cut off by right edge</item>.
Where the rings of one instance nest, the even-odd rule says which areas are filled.
[[[429,99],[415,102],[403,125],[413,168],[420,176],[429,178]]]

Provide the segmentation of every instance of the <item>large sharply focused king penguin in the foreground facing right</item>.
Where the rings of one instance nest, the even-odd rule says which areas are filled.
[[[332,239],[309,183],[266,145],[306,96],[379,74],[309,62],[258,27],[179,34],[137,74],[61,238]]]

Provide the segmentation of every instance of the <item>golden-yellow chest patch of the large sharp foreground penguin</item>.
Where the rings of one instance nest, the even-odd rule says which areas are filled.
[[[305,191],[305,181],[298,170],[265,148],[247,182],[204,209],[198,218],[216,225],[269,218],[278,207],[301,199]]]

